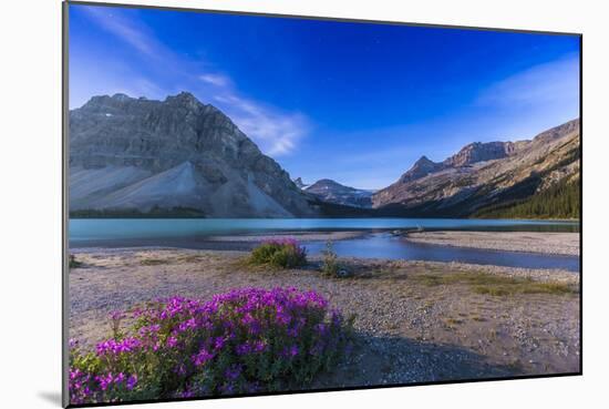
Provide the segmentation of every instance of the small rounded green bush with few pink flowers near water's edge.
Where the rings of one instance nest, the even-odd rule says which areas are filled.
[[[301,267],[307,264],[307,249],[293,238],[265,241],[251,250],[249,262],[278,268]]]

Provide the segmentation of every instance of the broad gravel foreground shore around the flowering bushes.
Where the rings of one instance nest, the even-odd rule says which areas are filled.
[[[341,262],[352,276],[330,278],[320,273],[319,258],[306,268],[265,270],[245,267],[242,252],[80,249],[75,255],[82,267],[70,272],[70,336],[87,346],[109,336],[106,317],[114,309],[173,295],[209,299],[236,287],[295,286],[317,290],[355,316],[353,355],[311,388],[580,369],[579,276],[569,272],[348,258]],[[493,295],[472,285],[477,275],[528,277],[530,288],[547,283],[569,290]]]

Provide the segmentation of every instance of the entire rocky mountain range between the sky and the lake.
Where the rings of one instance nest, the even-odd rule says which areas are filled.
[[[443,162],[422,156],[376,192],[290,180],[227,115],[187,92],[94,96],[70,112],[69,130],[73,216],[484,217],[541,206],[557,217],[579,208],[579,120],[530,141],[475,142]]]

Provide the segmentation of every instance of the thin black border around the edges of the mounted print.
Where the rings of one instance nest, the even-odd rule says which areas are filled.
[[[69,359],[69,227],[68,222],[70,219],[68,213],[69,203],[69,119],[70,119],[70,104],[69,104],[69,9],[70,6],[92,6],[92,7],[112,7],[122,9],[145,9],[145,10],[165,10],[165,11],[178,11],[178,12],[196,12],[196,13],[211,13],[211,14],[230,14],[230,16],[252,16],[252,17],[269,17],[269,18],[283,18],[283,19],[300,19],[300,20],[316,20],[316,21],[334,21],[334,22],[354,22],[354,23],[368,23],[368,24],[385,24],[385,25],[406,25],[406,27],[423,27],[434,29],[457,29],[457,30],[474,30],[474,31],[493,31],[493,32],[508,32],[508,33],[526,33],[526,34],[548,34],[548,35],[567,35],[579,38],[579,371],[564,372],[564,374],[544,374],[544,375],[524,375],[514,377],[492,377],[492,378],[473,378],[473,379],[456,379],[456,380],[440,380],[440,381],[425,381],[425,382],[410,382],[410,384],[391,384],[391,385],[373,385],[361,387],[343,387],[343,388],[318,388],[318,389],[302,389],[302,390],[285,390],[280,392],[257,392],[257,393],[242,393],[231,396],[209,396],[209,397],[196,397],[196,398],[167,398],[155,400],[132,400],[124,402],[100,402],[100,403],[84,403],[84,405],[70,405],[69,390],[68,390],[68,359]],[[417,23],[417,22],[403,22],[403,21],[386,21],[386,20],[365,20],[354,18],[337,18],[337,17],[322,17],[322,16],[298,16],[298,14],[281,14],[281,13],[265,13],[252,11],[238,11],[238,10],[214,10],[214,9],[197,9],[197,8],[182,8],[169,6],[149,6],[149,4],[125,4],[125,3],[112,3],[112,2],[96,2],[96,1],[72,1],[64,0],[62,2],[62,407],[64,408],[91,408],[91,407],[111,407],[121,405],[141,405],[141,403],[165,403],[165,402],[179,402],[179,401],[197,401],[197,400],[215,400],[215,399],[238,399],[249,397],[262,397],[262,396],[282,396],[282,395],[300,395],[300,393],[314,393],[314,392],[342,392],[353,390],[372,390],[372,389],[388,389],[388,388],[403,388],[403,387],[416,387],[416,386],[430,386],[430,385],[458,385],[458,384],[477,384],[489,381],[505,381],[505,380],[523,380],[523,379],[546,379],[546,378],[562,378],[584,375],[584,34],[581,32],[559,32],[559,31],[546,31],[546,30],[526,30],[526,29],[505,29],[505,28],[491,28],[491,27],[472,27],[472,25],[453,25],[453,24],[433,24],[433,23]]]

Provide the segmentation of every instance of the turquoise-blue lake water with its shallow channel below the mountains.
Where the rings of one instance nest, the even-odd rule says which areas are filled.
[[[179,219],[71,219],[71,248],[169,246],[179,248],[249,249],[254,244],[214,243],[218,235],[270,234],[307,231],[369,231],[370,234],[339,241],[339,256],[391,259],[462,262],[524,268],[561,268],[579,272],[579,257],[485,250],[415,244],[388,233],[393,229],[471,229],[503,232],[579,232],[579,222],[447,218],[179,218]],[[304,242],[309,254],[319,254],[321,242]],[[228,246],[228,247],[227,247]]]

